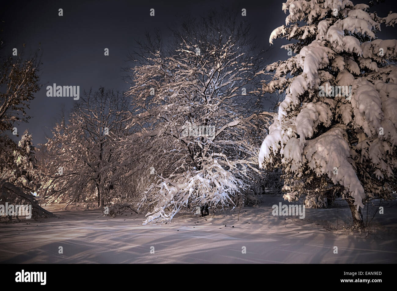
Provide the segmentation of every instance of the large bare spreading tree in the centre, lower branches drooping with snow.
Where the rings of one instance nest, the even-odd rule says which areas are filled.
[[[247,28],[229,15],[182,25],[164,49],[148,42],[131,68],[135,112],[129,138],[141,148],[138,185],[145,223],[183,207],[224,207],[258,174],[268,115],[252,110],[262,59]],[[136,173],[136,171],[134,171]],[[150,185],[148,187],[148,185]]]

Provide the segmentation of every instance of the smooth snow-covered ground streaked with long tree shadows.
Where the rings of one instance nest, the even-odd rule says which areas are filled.
[[[345,204],[306,209],[305,218],[272,215],[260,207],[197,217],[181,213],[172,223],[142,225],[144,215],[100,216],[100,210],[60,210],[60,218],[0,224],[2,263],[395,263],[397,206],[384,204],[370,232],[327,232],[324,225],[350,217]],[[373,208],[374,209],[374,208]],[[212,211],[210,210],[210,214]],[[338,217],[338,220],[335,219]],[[371,216],[372,217],[372,216]],[[63,254],[59,254],[59,247]],[[334,253],[334,246],[338,253]],[[150,250],[154,247],[154,253]],[[243,247],[246,253],[242,253]]]

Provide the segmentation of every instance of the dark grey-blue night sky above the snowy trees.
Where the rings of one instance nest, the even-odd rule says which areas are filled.
[[[220,10],[224,4],[240,13],[246,8],[245,21],[251,24],[257,42],[268,48],[270,33],[285,24],[286,17],[281,10],[285,0],[9,2],[2,4],[0,10],[0,21],[4,21],[0,38],[5,42],[2,53],[11,55],[12,48],[20,51],[23,43],[27,51],[34,51],[41,43],[40,84],[44,86],[31,102],[29,124],[16,126],[19,134],[29,128],[35,144],[46,142],[46,127],[52,127],[63,106],[68,112],[73,102],[78,102],[73,97],[47,97],[46,86],[80,86],[80,95],[83,89],[96,90],[100,86],[125,91],[128,84],[122,78],[125,72],[121,68],[127,65],[125,61],[136,46],[135,40],[142,40],[146,30],[158,28],[168,34],[166,28],[175,27],[187,13],[199,17],[212,8]],[[383,17],[389,10],[396,11],[395,6],[395,1],[388,1],[371,11]],[[58,16],[59,8],[63,9],[62,17]],[[150,8],[155,9],[154,17],[149,15]],[[382,27],[379,37],[395,38],[395,34],[395,29]],[[282,44],[274,42],[268,53],[269,63],[288,57],[285,50],[279,49]],[[109,48],[109,56],[104,56],[104,48]]]

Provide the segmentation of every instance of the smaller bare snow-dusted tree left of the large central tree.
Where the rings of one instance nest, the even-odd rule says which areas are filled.
[[[122,151],[119,137],[127,135],[123,115],[127,100],[119,93],[101,88],[85,92],[69,118],[52,129],[44,145],[50,163],[40,193],[50,202],[95,200],[98,206],[121,198],[126,181],[118,178]]]

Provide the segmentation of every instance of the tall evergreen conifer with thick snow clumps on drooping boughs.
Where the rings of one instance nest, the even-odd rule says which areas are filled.
[[[286,95],[259,163],[283,169],[286,200],[322,207],[340,194],[361,228],[360,208],[396,190],[397,41],[376,32],[397,13],[379,17],[350,0],[288,0],[283,10],[270,43],[294,40],[282,48],[296,55],[267,67],[264,91]]]

